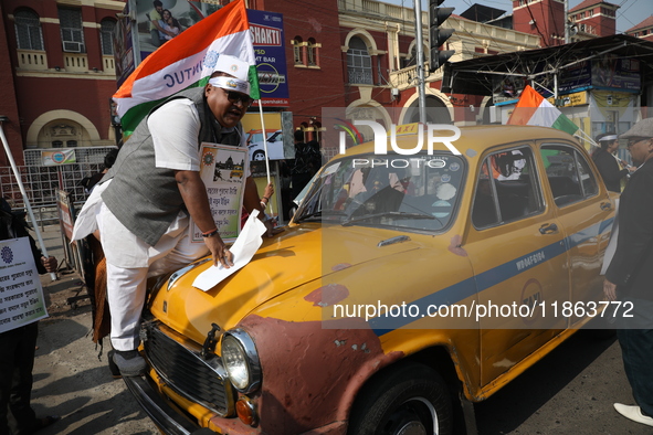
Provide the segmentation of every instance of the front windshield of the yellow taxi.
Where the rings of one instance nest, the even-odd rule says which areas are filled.
[[[455,215],[465,166],[452,155],[358,155],[328,163],[294,222],[440,231]]]

